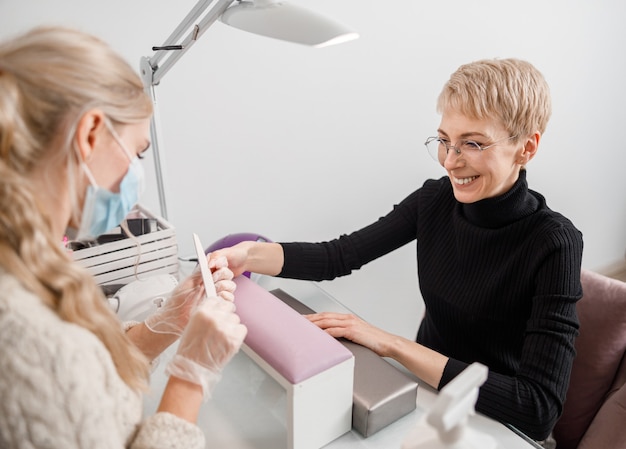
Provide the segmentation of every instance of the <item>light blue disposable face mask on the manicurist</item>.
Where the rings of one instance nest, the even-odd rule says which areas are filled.
[[[89,178],[77,240],[94,239],[118,226],[137,204],[144,189],[144,171],[137,156],[132,157],[113,128],[107,124],[113,138],[130,159],[128,171],[120,183],[119,193],[103,189],[95,181],[91,170],[83,162],[82,167]]]

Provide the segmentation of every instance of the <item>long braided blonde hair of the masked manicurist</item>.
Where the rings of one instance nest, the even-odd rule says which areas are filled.
[[[0,44],[0,267],[61,319],[94,333],[120,377],[140,390],[147,359],[93,277],[68,258],[27,182],[42,161],[62,161],[67,170],[57,176],[67,177],[77,216],[72,142],[80,118],[92,108],[123,124],[152,113],[139,76],[104,42],[77,30],[39,27]]]

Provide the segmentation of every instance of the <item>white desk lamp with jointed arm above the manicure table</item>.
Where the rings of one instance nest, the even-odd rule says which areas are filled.
[[[161,215],[167,219],[161,123],[155,86],[202,34],[221,21],[251,33],[313,47],[325,47],[358,38],[345,26],[302,7],[281,0],[200,0],[161,46],[152,47],[151,57],[140,62],[142,80],[152,99],[154,114],[150,135]],[[185,34],[186,33],[186,34]]]

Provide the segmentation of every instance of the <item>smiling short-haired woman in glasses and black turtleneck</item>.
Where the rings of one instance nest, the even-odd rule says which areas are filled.
[[[426,313],[415,318],[415,341],[353,315],[310,320],[396,359],[437,389],[481,362],[489,378],[477,410],[543,440],[569,383],[583,249],[570,220],[527,183],[551,114],[548,85],[528,62],[477,61],[452,74],[437,109],[441,122],[426,147],[447,176],[335,240],[242,242],[214,256],[225,256],[235,275],[330,280],[417,241]]]

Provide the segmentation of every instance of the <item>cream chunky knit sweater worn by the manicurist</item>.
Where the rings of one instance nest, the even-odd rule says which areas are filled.
[[[204,448],[169,413],[142,421],[142,397],[109,352],[0,270],[0,448]]]

